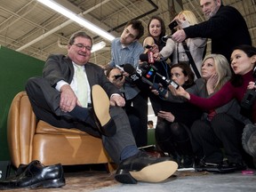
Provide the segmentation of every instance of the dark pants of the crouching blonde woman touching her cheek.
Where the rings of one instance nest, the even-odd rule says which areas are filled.
[[[243,162],[242,132],[244,124],[227,114],[217,114],[212,121],[197,120],[191,127],[196,155],[206,162],[220,163],[225,155],[229,163]]]

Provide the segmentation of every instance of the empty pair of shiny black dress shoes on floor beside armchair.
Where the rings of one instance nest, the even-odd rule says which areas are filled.
[[[15,177],[1,181],[0,189],[60,188],[64,185],[65,178],[61,164],[44,166],[39,161],[32,161],[27,166],[20,167]]]

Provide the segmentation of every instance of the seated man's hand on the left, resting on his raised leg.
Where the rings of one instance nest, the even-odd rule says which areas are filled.
[[[69,84],[65,84],[60,88],[60,108],[64,112],[70,112],[76,107],[78,102],[75,92]],[[79,104],[79,103],[77,103]]]

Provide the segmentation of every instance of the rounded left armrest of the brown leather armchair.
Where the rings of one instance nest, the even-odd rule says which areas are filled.
[[[26,92],[19,92],[12,100],[7,119],[7,140],[12,164],[28,164],[32,156],[32,142],[36,132],[36,116]]]

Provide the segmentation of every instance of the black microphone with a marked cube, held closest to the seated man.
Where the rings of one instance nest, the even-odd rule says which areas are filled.
[[[167,90],[164,89],[164,87],[159,86],[159,84],[153,84],[151,83],[147,78],[145,78],[144,76],[142,76],[142,71],[140,70],[140,68],[138,68],[137,70],[135,68],[132,67],[131,64],[125,64],[124,65],[124,71],[128,74],[130,74],[130,78],[132,80],[133,83],[138,84],[141,82],[148,84],[149,86],[153,87],[154,89],[156,89],[159,94],[161,96],[165,96]]]

